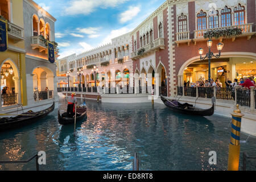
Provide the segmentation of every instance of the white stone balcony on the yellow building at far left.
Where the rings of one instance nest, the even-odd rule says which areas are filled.
[[[8,22],[8,37],[13,39],[15,43],[23,41],[23,28]]]

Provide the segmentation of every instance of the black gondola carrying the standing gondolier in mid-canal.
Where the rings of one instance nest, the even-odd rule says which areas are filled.
[[[76,121],[81,121],[81,119],[84,119],[87,116],[87,110],[86,107],[77,106],[76,107]],[[68,125],[71,123],[75,123],[75,117],[68,118],[67,113],[63,113],[60,115],[60,110],[58,111],[58,121],[60,125]]]

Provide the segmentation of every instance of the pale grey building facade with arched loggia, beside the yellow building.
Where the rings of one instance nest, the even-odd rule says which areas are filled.
[[[56,19],[32,0],[23,1],[23,14],[28,104],[45,102],[46,97],[57,101],[56,63],[49,62],[47,47],[47,42],[55,44]]]

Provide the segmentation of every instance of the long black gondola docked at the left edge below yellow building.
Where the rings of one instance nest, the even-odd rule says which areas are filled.
[[[54,110],[54,108],[55,108],[55,103],[53,102],[51,107],[42,111],[33,112],[32,110],[30,110],[16,117],[1,118],[0,131],[6,131],[6,130],[16,129],[22,126],[30,125],[31,123],[34,123],[39,119],[42,119],[43,117],[45,117],[47,114],[51,113]]]

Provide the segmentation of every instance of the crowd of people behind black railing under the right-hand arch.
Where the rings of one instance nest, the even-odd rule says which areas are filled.
[[[240,82],[238,82],[237,78],[234,78],[233,82],[229,80],[229,78],[225,81],[226,88],[234,88],[235,86],[241,85],[245,88],[250,89],[250,86],[256,86],[255,84],[256,77],[254,78],[253,76],[250,77],[243,77],[240,79]],[[211,86],[216,86],[218,88],[222,88],[222,82],[217,78],[215,81],[213,79],[209,80],[200,80],[196,81],[195,83],[189,82],[189,81],[184,81],[184,87],[185,86],[197,86],[197,87],[211,87]]]

